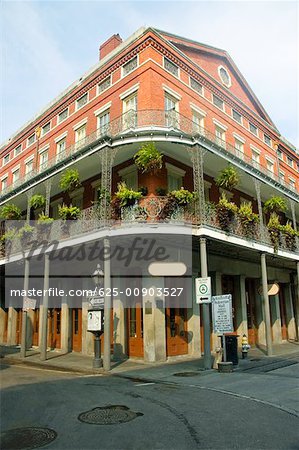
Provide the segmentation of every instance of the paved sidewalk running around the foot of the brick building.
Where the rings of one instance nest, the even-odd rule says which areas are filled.
[[[258,348],[249,351],[248,359],[239,359],[239,365],[234,367],[235,372],[252,371],[264,366],[272,367],[271,364],[281,364],[285,359],[299,355],[299,343],[286,342],[274,346],[274,355],[267,357]],[[27,351],[25,359],[20,358],[19,346],[1,346],[2,364],[24,364],[33,367],[60,370],[64,372],[74,372],[83,374],[103,374],[108,375],[102,369],[92,368],[92,356],[80,353],[62,353],[60,351],[49,351],[46,361],[40,360],[38,349]],[[109,374],[126,375],[128,377],[158,380],[173,376],[177,372],[201,371],[202,374],[215,372],[215,370],[203,369],[203,358],[190,358],[188,356],[178,356],[169,358],[167,362],[145,363],[144,361],[128,359],[124,361],[112,361],[111,372]]]

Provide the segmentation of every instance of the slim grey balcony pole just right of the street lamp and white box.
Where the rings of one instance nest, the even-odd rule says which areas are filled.
[[[111,289],[110,279],[110,241],[109,238],[104,238],[104,370],[109,371],[111,368],[110,355],[110,313],[111,313],[111,296],[107,292]]]

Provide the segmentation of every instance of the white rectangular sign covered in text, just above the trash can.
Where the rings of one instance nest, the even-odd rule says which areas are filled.
[[[212,318],[214,333],[230,333],[234,330],[231,294],[212,297]]]

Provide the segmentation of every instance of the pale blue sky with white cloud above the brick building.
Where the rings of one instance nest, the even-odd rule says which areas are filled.
[[[294,145],[297,1],[8,1],[1,4],[0,143],[98,61],[114,33],[153,26],[223,48]]]

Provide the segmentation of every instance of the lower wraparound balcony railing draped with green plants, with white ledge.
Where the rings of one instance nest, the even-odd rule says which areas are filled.
[[[21,228],[23,225],[24,221],[15,221],[8,227]],[[117,232],[121,228],[142,227],[145,232],[150,232],[153,225],[162,227],[167,225],[172,227],[185,226],[191,229],[194,232],[193,234],[204,228],[204,233],[207,233],[207,230],[217,232],[216,239],[220,241],[225,242],[227,237],[231,237],[237,238],[238,245],[244,245],[244,247],[247,246],[251,249],[257,250],[256,244],[260,244],[268,246],[270,253],[277,253],[280,250],[292,255],[299,254],[299,239],[297,237],[290,239],[280,233],[279,238],[274,242],[273,235],[271,236],[267,227],[261,227],[259,223],[244,226],[244,223],[237,216],[224,227],[215,205],[206,203],[204,212],[201,213],[199,204],[195,200],[187,206],[169,209],[167,197],[148,196],[140,199],[133,206],[121,208],[117,217],[115,217],[111,207],[107,207],[106,211],[103,212],[99,205],[94,205],[84,209],[78,220],[67,222],[55,220],[46,232],[38,229],[35,223],[32,223],[32,225],[34,231],[27,237],[27,240],[11,239],[6,244],[6,256],[24,254],[24,250],[30,248],[30,242],[40,243],[41,247],[45,242],[63,243],[63,241],[69,242],[72,239],[82,243],[88,242],[89,239],[96,239],[95,233],[101,231],[106,233],[107,229]],[[4,247],[0,257],[5,257]]]

